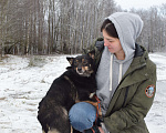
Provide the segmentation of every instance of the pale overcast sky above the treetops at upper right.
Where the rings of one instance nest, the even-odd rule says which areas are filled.
[[[115,2],[120,4],[122,9],[129,10],[131,8],[148,9],[152,6],[160,6],[162,3],[166,3],[166,0],[115,0]]]

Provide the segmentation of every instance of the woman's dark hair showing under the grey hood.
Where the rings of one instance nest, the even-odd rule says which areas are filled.
[[[108,19],[106,19],[102,27],[101,27],[101,32],[103,32],[103,30],[106,31],[106,33],[110,35],[110,37],[113,37],[113,38],[117,38],[118,39],[118,34],[116,32],[116,29],[114,27],[114,23],[112,23],[112,21],[110,21]]]

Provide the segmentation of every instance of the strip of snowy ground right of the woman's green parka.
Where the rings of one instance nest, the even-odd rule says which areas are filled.
[[[149,133],[166,133],[166,54],[153,53],[149,57],[157,65],[157,85],[154,104],[145,120]]]

